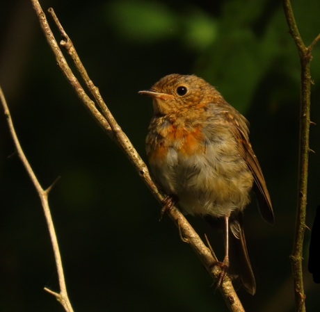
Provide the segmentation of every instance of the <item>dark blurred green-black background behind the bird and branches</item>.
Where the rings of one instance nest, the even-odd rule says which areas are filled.
[[[298,164],[300,66],[281,1],[42,1],[53,6],[106,103],[145,158],[150,99],[137,94],[166,74],[197,74],[250,121],[251,142],[271,193],[275,225],[245,213],[257,279],[246,311],[295,311],[291,254]],[[294,1],[306,44],[320,32],[318,0]],[[19,140],[40,183],[58,176],[49,202],[67,289],[80,311],[227,311],[191,248],[120,149],[65,81],[31,1],[1,1],[0,83]],[[59,38],[58,38],[59,39]],[[60,40],[60,39],[59,39]],[[313,51],[312,121],[320,124],[320,44]],[[320,131],[312,126],[307,226],[320,204]],[[0,311],[63,311],[40,200],[0,114]],[[189,217],[211,245],[221,236]],[[320,285],[307,272],[308,311]],[[222,253],[223,254],[223,253]],[[219,254],[221,257],[221,254]]]

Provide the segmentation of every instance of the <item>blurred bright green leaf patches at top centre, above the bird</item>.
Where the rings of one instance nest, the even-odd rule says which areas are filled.
[[[203,50],[216,38],[216,23],[204,10],[177,12],[161,1],[112,1],[106,19],[125,40],[152,43],[173,38],[186,48]]]

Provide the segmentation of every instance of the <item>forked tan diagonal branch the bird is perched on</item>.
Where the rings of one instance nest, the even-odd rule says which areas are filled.
[[[58,44],[45,17],[45,13],[43,13],[39,2],[36,0],[31,1],[33,3],[33,8],[35,8],[35,12],[38,15],[42,30],[47,38],[47,42],[54,52],[58,65],[59,67],[61,67],[63,74],[67,78],[67,81],[69,81],[70,85],[72,85],[72,88],[74,88],[74,90],[77,92],[79,99],[81,99],[83,104],[89,109],[90,113],[92,113],[93,117],[95,117],[100,126],[102,126],[106,133],[113,140],[115,140],[115,142],[117,142],[122,151],[125,152],[131,163],[136,168],[138,174],[141,176],[143,181],[145,181],[147,187],[151,190],[154,197],[156,197],[159,202],[162,202],[164,197],[157,189],[157,186],[154,185],[149,171],[147,170],[147,166],[143,162],[142,158],[138,155],[138,152],[131,144],[129,138],[127,138],[118,123],[115,121],[109,108],[106,106],[101,95],[99,94],[98,88],[93,84],[93,81],[90,80],[86,69],[84,69],[81,60],[77,55],[77,51],[74,49],[72,41],[61,26],[61,23],[58,21],[58,18],[54,14],[54,10],[49,9],[49,13],[54,18],[54,22],[56,23],[59,31],[61,32],[61,35],[63,36],[61,45],[66,49],[67,53],[70,54],[74,65],[81,74],[83,81],[85,81],[86,83],[86,87],[93,95],[93,99],[95,99],[97,106],[102,111],[102,114],[100,114],[99,110],[95,107],[95,103],[90,100],[88,95],[86,95],[86,92],[83,90],[79,81],[72,73],[70,67],[67,65],[67,61],[63,57],[60,47],[58,47]],[[168,214],[178,227],[181,236],[184,238],[184,241],[188,242],[195,254],[199,256],[207,271],[211,274],[212,277],[214,277],[214,279],[218,279],[220,275],[220,269],[215,266],[216,261],[212,256],[210,249],[205,245],[205,243],[202,242],[202,240],[198,236],[198,233],[194,231],[184,215],[182,215],[182,213],[180,213],[177,208],[174,207]],[[223,282],[223,285],[221,286],[221,288],[219,288],[219,290],[221,291],[221,294],[223,295],[223,298],[225,299],[225,302],[230,311],[244,312],[239,297],[237,296],[237,293],[232,286],[232,282],[228,277],[225,278],[225,281]]]

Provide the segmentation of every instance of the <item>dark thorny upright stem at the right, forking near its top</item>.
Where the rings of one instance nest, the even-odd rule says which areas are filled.
[[[305,215],[307,211],[307,175],[310,149],[310,89],[311,74],[310,62],[312,49],[320,40],[320,35],[306,47],[298,31],[294,12],[290,0],[282,0],[289,32],[294,38],[301,63],[301,101],[300,101],[300,138],[299,138],[299,164],[298,164],[298,201],[296,208],[296,231],[294,246],[291,255],[291,265],[294,277],[294,295],[296,311],[305,312],[305,290],[303,286],[303,239],[305,234]]]

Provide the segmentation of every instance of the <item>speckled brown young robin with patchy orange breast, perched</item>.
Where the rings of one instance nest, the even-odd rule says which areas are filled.
[[[249,142],[248,121],[198,76],[170,74],[139,93],[152,98],[154,115],[146,151],[156,183],[169,196],[166,204],[177,202],[184,214],[223,220],[225,258],[220,263],[223,273],[219,284],[229,268],[231,230],[241,284],[254,295],[243,209],[250,202],[252,189],[267,222],[273,222],[273,209]]]

